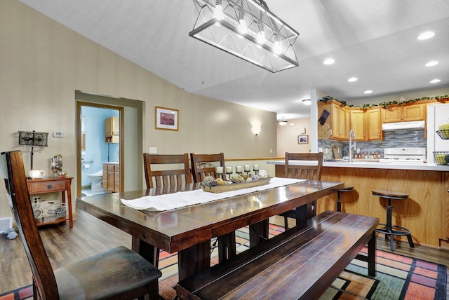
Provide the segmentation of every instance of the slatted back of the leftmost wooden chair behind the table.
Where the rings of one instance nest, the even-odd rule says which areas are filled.
[[[189,168],[189,154],[143,154],[147,189],[177,184],[191,184],[192,173]],[[152,170],[154,165],[182,165],[175,170]]]

